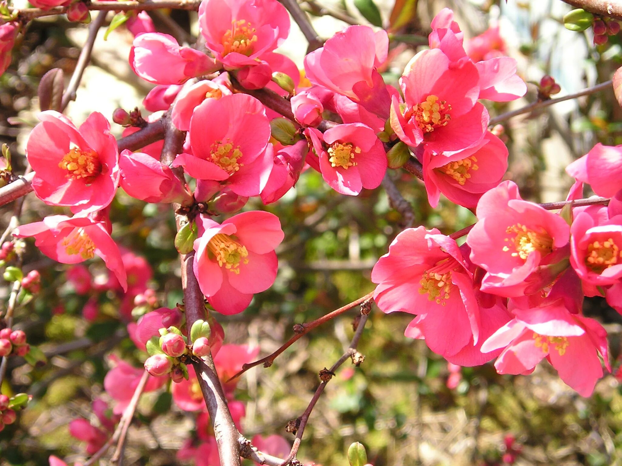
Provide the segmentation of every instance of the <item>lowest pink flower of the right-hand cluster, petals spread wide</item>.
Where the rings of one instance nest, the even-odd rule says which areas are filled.
[[[482,351],[504,348],[494,363],[497,372],[529,373],[546,357],[579,395],[592,395],[603,375],[598,353],[611,370],[605,329],[593,319],[570,314],[560,300],[544,301],[541,306],[527,304],[512,312],[516,318],[482,345]]]

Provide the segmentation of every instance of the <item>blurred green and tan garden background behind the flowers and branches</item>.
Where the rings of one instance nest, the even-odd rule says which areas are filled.
[[[455,11],[466,37],[498,25],[504,53],[518,60],[519,74],[536,83],[545,74],[553,76],[562,89],[557,96],[610,79],[622,61],[620,35],[595,47],[591,30],[564,28],[561,18],[570,7],[559,0],[509,0],[507,4],[504,0],[377,0],[376,4],[384,25],[394,30],[391,60],[383,73],[385,81],[394,85],[404,65],[420,50],[417,44],[427,43],[430,20],[446,6]],[[301,5],[312,13],[313,24],[325,38],[347,25],[335,16],[368,24],[352,0],[310,0]],[[180,42],[198,34],[193,12],[151,15],[158,30]],[[19,154],[24,153],[26,137],[37,122],[40,77],[55,67],[70,76],[85,39],[86,27],[64,17],[32,22],[14,50],[11,68],[0,77],[0,140],[16,154],[18,173],[24,167]],[[111,119],[116,107],[129,111],[142,106],[152,86],[129,68],[131,42],[132,34],[124,27],[106,41],[98,37],[78,99],[68,107],[73,121],[83,121],[92,111]],[[279,51],[302,68],[305,47],[292,21],[290,39]],[[491,115],[501,114],[535,101],[536,91],[536,86],[530,86],[519,101],[486,101],[486,105],[490,104]],[[606,91],[506,122],[504,137],[510,153],[506,178],[518,183],[526,199],[565,199],[571,180],[564,168],[596,142],[621,144],[620,114],[613,92]],[[120,135],[122,128],[113,125],[113,130]],[[470,211],[444,199],[439,208],[430,208],[424,187],[414,176],[401,171],[392,176],[412,203],[415,226],[437,227],[449,234],[475,221]],[[12,208],[9,204],[0,211],[2,229]],[[380,188],[357,197],[341,196],[313,170],[303,173],[295,190],[278,203],[262,206],[251,199],[244,209],[266,209],[281,219],[285,240],[277,249],[279,275],[243,314],[216,318],[225,327],[226,343],[259,347],[261,356],[287,340],[295,323],[311,321],[373,290],[371,268],[404,226]],[[30,194],[21,222],[39,221],[53,212],[62,211]],[[156,291],[160,306],[180,303],[170,208],[141,203],[119,190],[111,219],[114,239],[134,253],[128,259],[134,264],[130,273]],[[91,401],[106,397],[102,384],[111,367],[109,354],[136,367],[145,357],[129,340],[126,322],[119,318],[128,315],[134,296],[123,296],[110,285],[101,261],[87,263],[94,285],[86,293],[70,283],[66,266],[48,260],[30,242],[25,263],[25,271],[41,273],[42,290],[19,309],[17,327],[27,332],[31,344],[40,344],[48,363],[32,367],[22,361],[9,367],[2,393],[25,391],[34,398],[18,423],[0,432],[0,465],[47,465],[50,454],[68,462],[83,460],[83,443],[70,436],[68,423],[93,418]],[[0,305],[5,305],[9,291],[0,287]],[[587,299],[585,314],[605,325],[616,372],[621,317],[598,298]],[[246,402],[243,432],[247,437],[281,434],[293,440],[285,425],[306,408],[318,371],[330,367],[350,342],[355,315],[351,311],[324,324],[285,351],[272,367],[260,366],[242,377],[237,398]],[[384,315],[373,309],[359,345],[366,359],[358,368],[346,364],[328,384],[312,413],[299,457],[325,466],[346,465],[348,445],[360,441],[375,466],[622,465],[622,390],[615,373],[606,375],[592,398],[585,399],[565,386],[547,363],[528,377],[497,375],[490,363],[448,367],[424,342],[403,336],[410,320],[409,315]],[[168,393],[144,395],[138,420],[129,431],[126,465],[179,463],[175,454],[190,436],[194,419],[194,414],[171,406]]]

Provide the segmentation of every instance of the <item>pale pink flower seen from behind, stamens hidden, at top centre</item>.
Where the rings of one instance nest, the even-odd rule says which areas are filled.
[[[305,57],[305,73],[313,84],[346,96],[386,118],[391,100],[376,68],[386,61],[388,48],[389,37],[384,30],[374,32],[368,26],[350,26]]]

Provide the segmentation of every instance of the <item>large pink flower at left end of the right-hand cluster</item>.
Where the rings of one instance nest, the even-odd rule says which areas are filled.
[[[374,299],[384,313],[419,314],[406,336],[425,338],[450,357],[478,341],[480,312],[471,273],[456,242],[437,229],[409,228],[397,235],[371,272]]]

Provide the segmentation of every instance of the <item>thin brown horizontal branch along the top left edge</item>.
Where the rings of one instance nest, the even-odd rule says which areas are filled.
[[[160,8],[170,8],[197,11],[200,4],[200,0],[101,1],[89,3],[88,9],[91,11],[150,11]],[[49,10],[42,10],[40,8],[9,8],[9,11],[17,13],[19,19],[28,21],[42,16],[64,14],[67,12],[68,8],[68,6],[57,6],[50,8]]]

